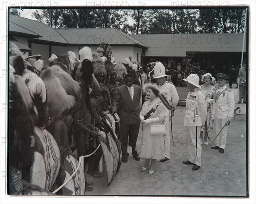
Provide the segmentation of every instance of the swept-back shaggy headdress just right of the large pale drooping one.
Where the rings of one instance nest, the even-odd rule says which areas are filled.
[[[74,96],[76,100],[81,98],[81,88],[79,83],[73,80],[73,78],[67,72],[56,65],[50,66],[48,69],[53,70],[55,77],[60,80],[61,86],[66,91],[67,95]]]

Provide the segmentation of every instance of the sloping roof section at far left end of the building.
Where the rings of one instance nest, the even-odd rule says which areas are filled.
[[[19,25],[23,29],[26,29],[23,30],[25,33],[27,32],[27,30],[29,30],[30,32],[34,32],[42,36],[39,38],[39,40],[44,40],[48,42],[51,41],[56,43],[67,43],[67,41],[55,29],[44,23],[15,15],[9,15],[9,21],[11,22],[10,31],[17,29],[17,25]]]

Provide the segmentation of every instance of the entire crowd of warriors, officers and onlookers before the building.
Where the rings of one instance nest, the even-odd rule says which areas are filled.
[[[128,162],[130,145],[131,154],[136,161],[145,159],[141,170],[148,169],[148,173],[153,174],[157,161],[166,162],[170,159],[172,117],[179,101],[175,86],[186,86],[189,89],[184,126],[187,126],[192,143],[188,145],[189,160],[183,161],[183,164],[193,164],[192,170],[201,167],[203,133],[204,145],[208,145],[210,131],[215,131],[216,135],[221,131],[216,138],[216,146],[212,149],[219,149],[220,153],[224,153],[227,125],[232,121],[235,103],[233,92],[225,85],[228,79],[225,73],[216,75],[215,81],[209,70],[202,71],[198,63],[189,64],[184,70],[180,63],[177,66],[175,64],[175,68],[170,68],[167,63],[158,60],[151,60],[145,67],[141,67],[132,57],[125,58],[124,62],[115,62],[110,45],[105,43],[99,45],[96,53],[91,53],[89,47],[84,47],[79,55],[80,60],[73,52],[59,57],[52,55],[49,66],[43,67],[40,60],[32,60],[33,57],[24,59],[15,45],[11,44],[10,48],[10,67],[14,73],[10,80],[10,100],[14,104],[18,100],[30,98],[27,104],[31,104],[26,106],[26,117],[31,123],[27,128],[30,131],[21,129],[20,131],[24,131],[21,133],[17,133],[16,123],[24,123],[22,115],[19,115],[24,112],[16,112],[15,105],[10,107],[13,124],[11,137],[28,138],[30,142],[27,148],[33,151],[33,127],[49,131],[61,151],[60,171],[56,179],[58,186],[66,176],[64,161],[67,155],[75,155],[79,159],[94,152],[100,144],[99,131],[109,132],[109,127],[103,122],[103,118],[109,113],[120,119],[116,122],[114,131],[120,141],[122,163]],[[245,69],[246,64],[244,69],[239,70],[241,92],[246,87]],[[36,77],[27,78],[27,73]],[[58,77],[52,78],[56,73]],[[233,68],[229,74],[232,73]],[[17,94],[21,97],[18,98]],[[245,100],[246,95],[244,102]],[[20,121],[16,121],[17,118]],[[222,127],[224,129],[221,130]],[[28,149],[19,149],[17,143],[12,143],[11,147],[10,152],[14,157],[28,154]],[[99,148],[92,157],[85,159],[85,175],[102,178],[99,172],[101,157],[102,149]],[[15,161],[11,162],[12,184],[17,183],[19,172],[18,181],[28,185],[29,179],[23,177],[22,173],[29,170],[31,155],[30,158],[26,157],[26,162],[24,160],[23,157],[15,157]],[[52,192],[51,189],[41,189],[36,185],[30,187],[41,192]],[[17,189],[14,184],[11,194],[26,194],[20,188]],[[87,177],[85,190],[93,190],[93,184]]]

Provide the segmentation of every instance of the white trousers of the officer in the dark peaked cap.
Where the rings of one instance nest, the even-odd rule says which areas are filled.
[[[221,128],[225,125],[227,122],[227,119],[214,119],[215,121],[215,127],[216,127],[216,135],[221,131]],[[216,138],[216,145],[222,149],[225,149],[227,143],[227,126],[223,128],[221,133]]]

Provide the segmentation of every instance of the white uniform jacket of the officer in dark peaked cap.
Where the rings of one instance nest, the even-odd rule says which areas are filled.
[[[220,93],[221,95],[219,95]],[[227,86],[223,86],[215,90],[213,98],[215,97],[217,97],[217,100],[213,102],[214,118],[233,118],[235,109],[235,99],[233,92],[230,89],[228,89]]]

